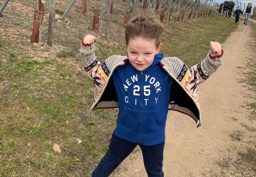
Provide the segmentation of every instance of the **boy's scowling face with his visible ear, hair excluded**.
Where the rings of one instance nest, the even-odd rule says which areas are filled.
[[[131,38],[127,45],[130,64],[138,71],[147,69],[153,63],[155,54],[160,52],[161,47],[162,43],[156,47],[155,39]]]

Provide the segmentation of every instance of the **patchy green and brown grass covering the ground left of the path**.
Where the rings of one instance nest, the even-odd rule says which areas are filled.
[[[33,7],[34,1],[17,2]],[[57,3],[59,10],[65,10],[70,1]],[[55,25],[53,44],[68,49],[57,50],[43,60],[34,58],[31,52],[51,49],[27,42],[32,18],[13,7],[4,11],[3,24],[8,29],[18,28],[20,40],[3,36],[0,41],[0,176],[89,176],[108,149],[117,110],[88,114],[94,101],[92,82],[77,69],[77,54],[83,35],[91,32],[87,30],[91,19],[78,10],[79,5],[74,5],[69,13],[72,26]],[[15,17],[20,20],[13,20]],[[115,18],[115,27],[122,31],[122,19]],[[47,25],[42,23],[44,42]],[[165,27],[162,52],[180,57],[188,65],[205,57],[210,40],[224,42],[236,29],[233,20],[217,13]],[[115,28],[111,30],[115,33]],[[96,54],[100,60],[111,54],[126,54],[121,34],[108,39],[99,36]],[[76,138],[82,140],[81,144]],[[55,143],[61,146],[60,154],[52,150]]]

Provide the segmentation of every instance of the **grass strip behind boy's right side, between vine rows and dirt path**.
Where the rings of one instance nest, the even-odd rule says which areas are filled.
[[[210,50],[210,41],[223,43],[236,29],[237,25],[230,20],[214,14],[201,18],[200,22],[171,23],[171,28],[162,36],[162,52],[165,56],[182,59],[188,66],[195,65],[205,58]]]

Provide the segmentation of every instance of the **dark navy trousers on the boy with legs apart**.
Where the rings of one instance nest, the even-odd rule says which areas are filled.
[[[109,150],[101,159],[91,176],[109,176],[115,170],[115,168],[122,163],[122,161],[124,161],[128,155],[130,155],[132,150],[134,150],[137,145],[138,144],[129,142],[113,134],[109,144]],[[164,173],[162,172],[162,161],[165,142],[153,146],[143,146],[142,144],[139,144],[139,146],[143,154],[143,161],[147,176],[164,176]]]

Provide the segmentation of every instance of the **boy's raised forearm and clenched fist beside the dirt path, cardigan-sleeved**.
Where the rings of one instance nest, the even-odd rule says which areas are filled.
[[[201,61],[201,63],[190,67],[190,71],[197,84],[201,84],[208,79],[223,63],[223,50],[221,49],[221,44],[218,42],[211,42],[210,44],[211,49],[205,59]]]

